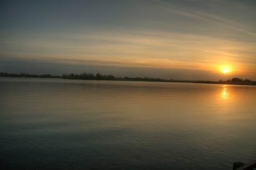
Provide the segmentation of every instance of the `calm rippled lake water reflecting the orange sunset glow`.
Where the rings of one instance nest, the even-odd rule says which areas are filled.
[[[256,87],[0,77],[1,169],[232,169]]]

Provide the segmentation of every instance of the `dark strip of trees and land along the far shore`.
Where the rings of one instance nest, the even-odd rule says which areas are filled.
[[[92,73],[82,73],[82,74],[62,74],[62,76],[52,76],[51,74],[11,74],[6,72],[1,72],[0,77],[35,77],[35,78],[63,78],[63,79],[88,79],[88,80],[111,80],[111,81],[147,81],[147,82],[187,82],[187,83],[209,83],[209,84],[248,84],[248,85],[256,85],[256,81],[251,81],[250,79],[242,79],[242,78],[232,78],[227,81],[223,81],[220,79],[218,82],[215,81],[190,81],[190,80],[175,80],[175,79],[164,79],[164,78],[149,78],[149,77],[121,77],[114,75],[102,75],[101,73],[97,73],[96,75]]]

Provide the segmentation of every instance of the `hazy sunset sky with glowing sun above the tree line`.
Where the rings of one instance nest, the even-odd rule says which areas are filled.
[[[256,81],[256,1],[1,1],[0,72]]]

